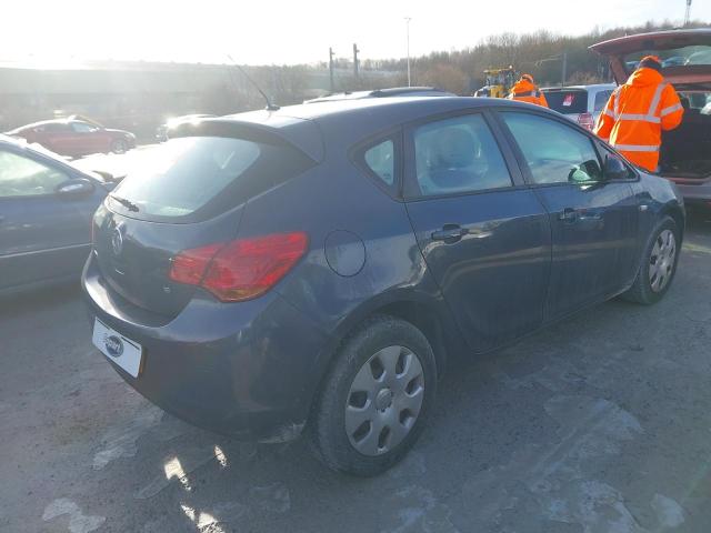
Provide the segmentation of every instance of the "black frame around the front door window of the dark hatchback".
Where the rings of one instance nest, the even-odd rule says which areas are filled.
[[[569,181],[560,181],[555,183],[535,183],[533,181],[533,174],[531,173],[531,169],[529,168],[528,161],[525,160],[525,157],[523,155],[523,152],[521,151],[519,143],[517,142],[515,138],[513,137],[513,133],[509,129],[509,125],[505,123],[504,118],[501,115],[502,112],[532,114],[534,117],[540,117],[542,119],[548,119],[548,120],[558,122],[563,128],[569,128],[573,131],[581,133],[582,135],[587,137],[588,140],[591,142],[592,150],[598,158],[598,164],[600,165],[600,169],[603,169],[603,162],[602,162],[600,149],[598,148],[598,143],[603,141],[595,134],[591,133],[590,131],[585,130],[579,124],[572,122],[570,119],[567,119],[564,115],[555,117],[549,112],[539,112],[538,110],[512,109],[512,108],[503,108],[503,107],[491,108],[491,111],[495,115],[495,121],[501,128],[503,137],[505,138],[507,142],[510,144],[512,152],[515,154],[517,162],[519,163],[519,167],[521,169],[521,174],[523,175],[523,179],[527,182],[527,185],[531,189],[540,189],[540,188],[549,188],[549,187],[570,187],[570,185],[581,187],[581,185],[588,185],[592,183],[630,183],[630,182],[639,181],[639,174],[634,172],[635,174],[634,179],[629,179],[629,180],[614,180],[614,181],[600,180],[600,181],[588,182],[588,183],[571,183]],[[611,149],[611,150],[619,155],[619,153],[614,149]],[[622,160],[627,161],[624,160],[624,158],[622,158]]]

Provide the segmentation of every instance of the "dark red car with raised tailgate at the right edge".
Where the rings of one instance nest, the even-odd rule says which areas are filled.
[[[615,80],[623,83],[630,60],[647,54],[674,58],[662,74],[679,92],[685,108],[682,123],[662,133],[659,173],[679,187],[689,204],[711,208],[711,30],[668,30],[628,36],[591,47],[607,56]],[[682,64],[679,64],[682,58]]]

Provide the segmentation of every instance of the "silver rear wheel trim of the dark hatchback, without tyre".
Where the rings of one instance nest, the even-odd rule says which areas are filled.
[[[383,348],[358,371],[346,401],[346,432],[363,455],[381,455],[410,433],[424,399],[424,372],[417,354]]]

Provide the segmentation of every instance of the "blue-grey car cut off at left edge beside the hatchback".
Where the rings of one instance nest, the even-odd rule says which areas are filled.
[[[91,218],[113,183],[0,135],[0,294],[79,280]]]

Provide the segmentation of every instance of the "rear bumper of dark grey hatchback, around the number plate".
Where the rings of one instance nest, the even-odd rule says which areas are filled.
[[[168,320],[112,293],[93,255],[82,288],[92,325],[98,318],[142,346],[138,378],[111,364],[148,400],[231,436],[281,442],[299,435],[328,335],[273,291],[237,304],[196,295]]]

